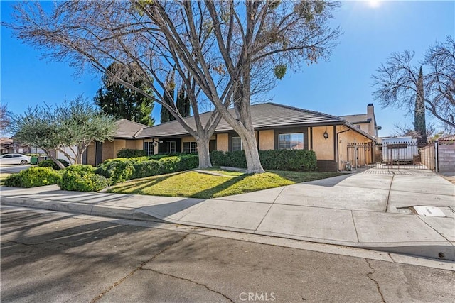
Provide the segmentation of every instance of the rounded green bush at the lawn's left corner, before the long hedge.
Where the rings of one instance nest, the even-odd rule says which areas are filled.
[[[108,186],[107,179],[95,174],[92,165],[71,165],[63,170],[62,179],[58,182],[63,190],[77,192],[98,192]]]

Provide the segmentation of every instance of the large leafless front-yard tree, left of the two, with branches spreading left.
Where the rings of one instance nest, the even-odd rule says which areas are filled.
[[[212,166],[209,141],[221,116],[215,110],[208,121],[201,121],[198,85],[184,67],[177,66],[164,36],[138,6],[127,1],[67,1],[56,2],[48,12],[38,2],[23,2],[16,4],[15,11],[15,23],[7,26],[18,38],[45,50],[45,57],[51,60],[66,60],[79,72],[86,67],[95,69],[109,77],[109,81],[161,104],[196,138],[199,167]],[[210,35],[205,31],[208,28],[198,28],[198,43],[210,48]],[[166,101],[171,97],[163,79],[176,69],[191,101],[194,123],[184,119],[174,102]],[[134,86],[138,78],[149,84],[153,94]],[[220,77],[219,81],[222,80]]]

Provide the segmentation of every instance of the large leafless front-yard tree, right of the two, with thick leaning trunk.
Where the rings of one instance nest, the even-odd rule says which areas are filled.
[[[259,67],[280,78],[288,66],[296,69],[301,62],[312,63],[327,56],[339,35],[338,28],[331,30],[326,25],[337,4],[274,0],[133,2],[164,35],[173,60],[192,73],[215,109],[242,138],[247,172],[264,172],[250,114],[252,70]],[[200,27],[210,28],[216,39],[213,48],[201,48]],[[207,58],[220,62],[215,72]],[[223,94],[215,86],[220,69],[229,79],[221,90]],[[229,101],[235,115],[225,107]]]

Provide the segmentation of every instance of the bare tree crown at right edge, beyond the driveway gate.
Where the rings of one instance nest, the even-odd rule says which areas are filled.
[[[372,76],[373,97],[382,106],[415,109],[416,99],[424,100],[425,109],[437,119],[455,127],[455,44],[452,38],[429,48],[424,65],[423,89],[419,68],[412,65],[414,52],[392,53]]]

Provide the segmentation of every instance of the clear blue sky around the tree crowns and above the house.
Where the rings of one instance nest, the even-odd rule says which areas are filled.
[[[1,1],[1,21],[11,20],[12,4]],[[337,116],[363,114],[373,103],[380,136],[391,135],[397,123],[412,126],[407,109],[382,109],[372,99],[370,75],[392,52],[414,50],[417,64],[429,45],[454,36],[455,1],[342,1],[332,23],[343,35],[330,60],[286,75],[269,92],[272,101]],[[75,75],[65,62],[45,62],[41,55],[1,27],[1,103],[9,110],[21,114],[44,102],[95,96],[100,75]]]

